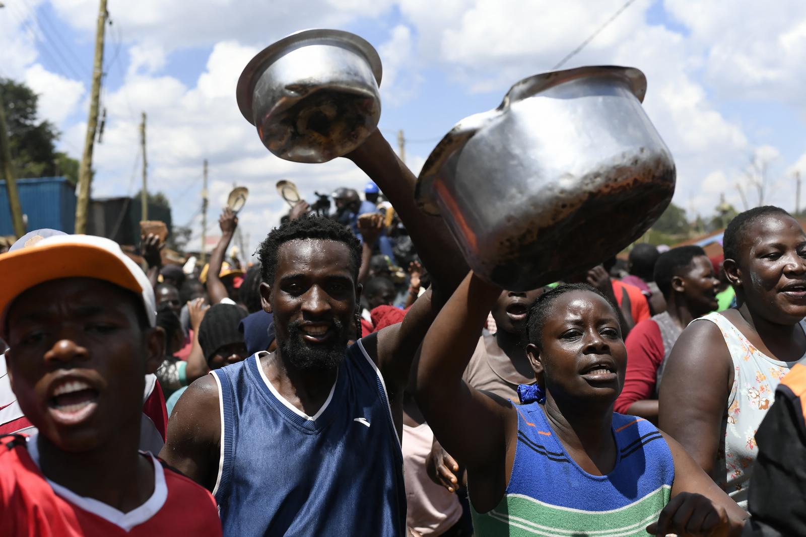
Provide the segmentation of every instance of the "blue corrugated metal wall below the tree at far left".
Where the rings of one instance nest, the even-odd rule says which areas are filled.
[[[19,204],[28,217],[26,231],[59,229],[73,233],[76,225],[76,194],[65,177],[18,179]],[[0,181],[0,235],[13,235],[6,181]]]

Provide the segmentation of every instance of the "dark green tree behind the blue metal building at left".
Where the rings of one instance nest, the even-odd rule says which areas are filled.
[[[78,180],[78,161],[56,151],[60,133],[51,122],[36,118],[39,96],[27,85],[0,78],[0,96],[6,105],[11,161],[18,177],[67,176]]]

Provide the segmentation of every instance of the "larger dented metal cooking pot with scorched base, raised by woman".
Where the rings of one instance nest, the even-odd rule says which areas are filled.
[[[642,108],[638,69],[526,78],[431,152],[418,204],[441,214],[476,274],[540,287],[617,254],[675,192],[675,163]]]

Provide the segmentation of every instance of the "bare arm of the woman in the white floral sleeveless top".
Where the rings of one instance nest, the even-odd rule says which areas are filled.
[[[722,334],[708,320],[696,320],[683,330],[663,370],[659,427],[708,475],[713,475],[717,459],[732,375]]]

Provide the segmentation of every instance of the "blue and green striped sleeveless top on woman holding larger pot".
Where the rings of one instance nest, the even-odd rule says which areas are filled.
[[[512,476],[495,509],[472,510],[477,537],[646,537],[644,528],[669,502],[675,479],[669,446],[654,425],[613,413],[616,465],[608,475],[594,476],[565,451],[540,403],[515,408]]]

